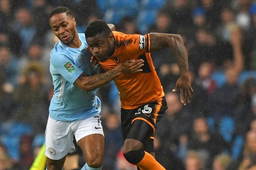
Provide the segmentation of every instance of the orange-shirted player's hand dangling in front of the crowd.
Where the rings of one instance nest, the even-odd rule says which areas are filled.
[[[176,82],[176,87],[172,90],[173,92],[178,91],[180,89],[180,101],[185,106],[190,102],[190,99],[193,95],[193,89],[190,85],[190,80],[188,75],[181,75]]]

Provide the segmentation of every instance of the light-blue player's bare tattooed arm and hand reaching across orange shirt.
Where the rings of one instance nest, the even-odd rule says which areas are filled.
[[[126,60],[123,63],[117,65],[115,68],[111,69],[108,72],[101,73],[94,76],[87,77],[85,73],[82,73],[75,81],[75,86],[81,88],[85,92],[89,92],[91,90],[94,90],[114,78],[116,78],[118,75],[125,73],[135,73],[142,71],[141,67],[144,65],[144,60]]]

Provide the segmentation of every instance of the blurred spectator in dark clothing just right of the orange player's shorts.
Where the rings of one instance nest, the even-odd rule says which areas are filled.
[[[182,159],[185,155],[180,153],[178,146],[181,141],[186,142],[182,140],[182,137],[188,140],[191,127],[191,121],[189,120],[192,119],[193,115],[182,106],[177,94],[169,92],[165,95],[165,98],[169,107],[155,132],[159,138],[159,145],[161,145],[161,148],[158,149],[158,155],[161,157],[159,159],[168,159],[165,158],[165,152],[171,152]]]

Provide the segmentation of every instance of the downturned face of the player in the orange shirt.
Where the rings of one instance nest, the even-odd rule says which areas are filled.
[[[105,35],[104,33],[96,34],[94,37],[86,38],[90,52],[99,61],[106,61],[114,50],[113,35]]]

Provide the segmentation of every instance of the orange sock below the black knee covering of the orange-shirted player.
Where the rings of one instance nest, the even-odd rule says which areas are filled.
[[[144,151],[145,152],[145,151]],[[140,168],[140,170],[166,170],[155,158],[145,152],[144,157],[142,160],[136,164]]]

